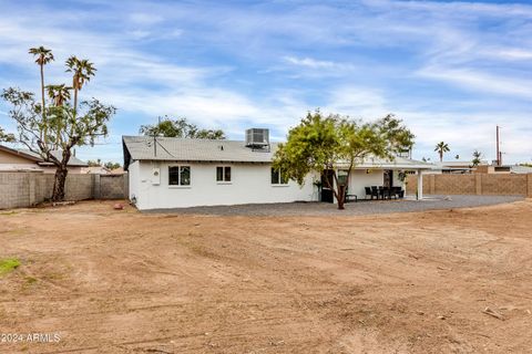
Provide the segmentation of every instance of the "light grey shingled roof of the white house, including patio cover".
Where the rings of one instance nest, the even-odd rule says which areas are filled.
[[[191,139],[175,137],[123,136],[124,169],[133,160],[269,164],[278,143],[269,149],[252,149],[241,140]],[[339,164],[341,165],[341,164]],[[368,159],[357,168],[431,169],[432,164],[397,157],[396,160]]]

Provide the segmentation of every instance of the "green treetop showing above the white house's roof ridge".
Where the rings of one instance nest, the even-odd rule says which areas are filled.
[[[154,125],[141,125],[140,134],[149,136],[186,137],[200,139],[225,139],[225,133],[221,129],[200,129],[186,118],[172,119],[164,117]]]

